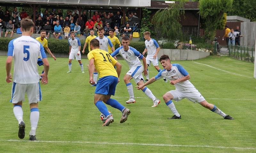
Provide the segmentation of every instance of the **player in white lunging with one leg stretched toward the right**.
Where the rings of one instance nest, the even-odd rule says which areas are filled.
[[[187,98],[194,103],[199,103],[200,105],[208,108],[214,113],[221,115],[224,119],[233,120],[234,118],[223,113],[218,107],[213,104],[208,103],[201,93],[196,90],[195,86],[188,80],[190,78],[188,72],[180,64],[171,64],[168,55],[162,55],[159,59],[160,63],[164,67],[156,77],[152,77],[145,84],[139,85],[136,88],[141,89],[148,84],[152,84],[156,80],[162,78],[163,76],[170,80],[170,84],[175,86],[175,90],[168,91],[164,94],[163,98],[165,104],[170,108],[174,114],[168,119],[181,119],[180,113],[176,110],[172,100],[179,101],[183,98]]]

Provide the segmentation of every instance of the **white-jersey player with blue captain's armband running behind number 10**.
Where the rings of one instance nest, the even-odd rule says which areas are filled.
[[[144,72],[144,75],[147,75],[147,64],[146,64],[146,58],[140,54],[135,48],[132,48],[129,46],[130,41],[129,37],[125,36],[122,38],[122,45],[121,47],[117,48],[112,54],[112,57],[115,57],[116,55],[121,55],[124,60],[128,63],[130,70],[126,73],[124,76],[124,82],[126,84],[128,93],[130,95],[129,100],[126,101],[126,104],[135,103],[136,100],[134,99],[133,94],[133,88],[132,83],[130,80],[133,78],[135,83],[138,85],[144,84],[142,72]],[[143,61],[144,70],[142,67],[142,64],[140,62],[140,59]],[[160,104],[160,100],[157,99],[153,93],[148,89],[148,87],[143,87],[141,90],[150,98],[153,100],[153,106],[156,107],[158,104]]]

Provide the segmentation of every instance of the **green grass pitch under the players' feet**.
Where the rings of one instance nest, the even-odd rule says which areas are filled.
[[[100,112],[93,104],[95,87],[89,84],[88,60],[82,59],[85,74],[81,73],[76,61],[72,62],[72,73],[67,74],[67,58],[57,58],[57,61],[48,58],[49,83],[41,85],[43,100],[39,103],[38,141],[29,142],[28,101],[23,102],[22,107],[26,135],[21,140],[17,134],[18,121],[9,102],[12,84],[5,82],[5,60],[6,57],[0,56],[3,67],[0,71],[0,152],[256,152],[256,79],[253,78],[253,63],[217,56],[194,62],[173,61],[187,69],[190,81],[208,102],[235,120],[224,120],[188,99],[174,102],[182,119],[167,120],[172,113],[162,96],[174,90],[174,86],[163,80],[148,85],[153,94],[161,99],[161,104],[155,108],[151,108],[151,99],[135,88],[136,103],[127,105],[125,101],[129,96],[122,78],[129,67],[124,60],[119,60],[123,67],[114,97],[129,108],[131,114],[121,124],[121,112],[108,106],[115,122],[102,127]],[[39,72],[42,69],[39,67]],[[150,77],[157,74],[153,66],[149,67],[149,71]],[[134,81],[131,82],[135,86]]]

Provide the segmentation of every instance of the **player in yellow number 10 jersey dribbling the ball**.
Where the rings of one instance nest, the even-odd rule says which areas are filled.
[[[117,100],[110,98],[111,95],[115,95],[116,85],[119,82],[122,66],[110,54],[108,54],[108,52],[99,49],[99,40],[91,40],[90,47],[92,51],[87,55],[89,59],[89,83],[95,84],[92,77],[94,65],[100,74],[100,79],[98,80],[94,92],[94,104],[101,113],[107,116],[107,120],[102,126],[108,126],[110,123],[114,122],[114,118],[109,114],[108,108],[104,103],[119,109],[122,112],[120,123],[124,123],[130,114],[130,110],[122,106]],[[116,70],[114,69],[114,66],[116,66]]]

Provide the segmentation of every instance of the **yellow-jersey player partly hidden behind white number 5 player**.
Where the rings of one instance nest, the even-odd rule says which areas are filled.
[[[43,47],[45,48],[45,50],[52,56],[52,58],[54,59],[54,61],[56,61],[56,57],[52,54],[52,52],[51,52],[50,49],[48,48],[48,42],[47,42],[47,40],[45,39],[45,37],[46,37],[46,31],[45,31],[45,30],[41,30],[41,31],[40,31],[40,35],[41,35],[41,37],[37,37],[36,40],[39,41],[39,42],[43,45]],[[37,64],[38,64],[39,66],[44,65],[44,63],[43,63],[43,61],[41,60],[40,57],[38,57]],[[43,73],[44,73],[44,69],[43,69],[43,71],[42,71],[42,74],[43,74]],[[40,75],[40,80],[42,80],[41,75]]]

